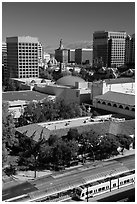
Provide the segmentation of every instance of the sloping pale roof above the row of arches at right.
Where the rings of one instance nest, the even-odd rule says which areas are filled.
[[[135,105],[135,95],[132,95],[132,94],[108,91],[105,94],[95,96],[94,98],[120,103],[120,104],[125,104],[125,105],[131,105],[131,106]]]

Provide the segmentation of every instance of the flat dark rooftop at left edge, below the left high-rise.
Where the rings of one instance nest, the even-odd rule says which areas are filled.
[[[37,91],[8,91],[2,93],[3,101],[41,101],[47,97],[49,95]]]

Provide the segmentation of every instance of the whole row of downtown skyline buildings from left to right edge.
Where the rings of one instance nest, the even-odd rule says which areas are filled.
[[[45,58],[45,59],[44,59]],[[2,45],[3,76],[7,78],[39,77],[39,66],[50,61],[50,55],[43,52],[42,43],[34,37],[7,37]],[[53,59],[52,59],[53,61]],[[97,31],[93,33],[93,49],[66,49],[60,41],[55,50],[55,60],[64,66],[101,64],[104,67],[117,68],[122,65],[135,65],[135,35],[124,31]],[[56,63],[56,64],[57,64]]]

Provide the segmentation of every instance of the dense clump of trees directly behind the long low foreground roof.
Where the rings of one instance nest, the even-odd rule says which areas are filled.
[[[27,105],[17,126],[30,123],[39,123],[59,119],[68,119],[83,116],[80,105],[76,103],[65,104],[64,101],[48,101],[43,104],[31,102]]]

